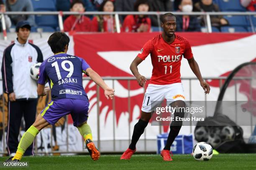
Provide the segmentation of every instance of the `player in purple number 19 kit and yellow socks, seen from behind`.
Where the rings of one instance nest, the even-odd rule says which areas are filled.
[[[51,89],[51,102],[36,117],[33,125],[23,134],[14,157],[7,161],[19,161],[26,149],[33,143],[40,130],[54,125],[61,117],[69,113],[73,125],[83,136],[86,147],[93,160],[100,158],[100,152],[92,142],[92,131],[87,124],[89,100],[82,86],[82,72],[104,89],[105,96],[112,99],[114,90],[102,80],[84,59],[67,54],[69,37],[64,32],[54,32],[48,40],[54,55],[40,66],[37,92],[46,95]],[[50,87],[45,88],[48,81]]]

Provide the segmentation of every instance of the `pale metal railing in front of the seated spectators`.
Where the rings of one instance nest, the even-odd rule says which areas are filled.
[[[2,28],[3,28],[3,36],[4,39],[7,40],[7,33],[6,33],[6,27],[5,27],[5,18],[4,15],[58,15],[59,19],[59,28],[61,31],[64,30],[63,28],[63,15],[114,15],[115,16],[115,24],[117,27],[117,32],[120,33],[120,20],[119,15],[156,15],[159,23],[159,32],[161,32],[161,26],[160,26],[160,15],[163,15],[165,13],[169,12],[64,12],[64,11],[54,11],[54,12],[5,12],[0,13],[2,15],[1,22],[2,22]],[[205,17],[206,25],[207,25],[207,31],[212,32],[212,26],[210,22],[210,16],[211,15],[256,15],[256,12],[191,12],[191,13],[184,13],[184,12],[172,12],[174,15],[202,15]],[[254,26],[251,20],[251,17],[249,18],[250,25],[253,30],[253,33],[255,32]]]

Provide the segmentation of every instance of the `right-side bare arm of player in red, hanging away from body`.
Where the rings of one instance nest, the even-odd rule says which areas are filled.
[[[201,75],[199,66],[198,66],[196,60],[194,59],[194,57],[192,57],[191,59],[188,59],[187,61],[189,62],[189,66],[190,66],[191,70],[194,72],[194,74],[197,76],[197,79],[200,81],[200,85],[205,90],[205,94],[209,94],[210,86],[207,82],[205,82],[202,79],[202,75]]]

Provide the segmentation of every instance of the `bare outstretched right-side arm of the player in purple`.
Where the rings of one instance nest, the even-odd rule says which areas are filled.
[[[107,97],[107,99],[113,99],[115,90],[108,87],[106,83],[102,80],[100,75],[98,75],[97,72],[92,70],[92,68],[87,68],[86,70],[87,75],[94,81],[97,85],[99,85],[103,90],[104,94]]]

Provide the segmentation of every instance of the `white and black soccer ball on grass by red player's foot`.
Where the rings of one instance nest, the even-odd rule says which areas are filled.
[[[197,143],[193,148],[193,156],[196,160],[210,160],[212,147],[206,142]]]

